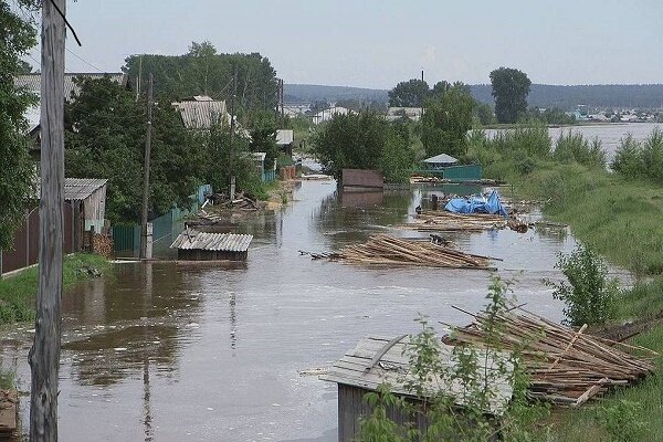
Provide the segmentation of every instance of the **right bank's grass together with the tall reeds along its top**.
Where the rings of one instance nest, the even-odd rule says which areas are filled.
[[[557,152],[556,148],[561,150]],[[518,197],[547,200],[547,217],[570,224],[579,241],[635,275],[634,286],[622,291],[615,301],[613,323],[644,322],[644,332],[633,343],[663,355],[663,322],[657,320],[663,316],[661,152],[659,131],[642,144],[628,137],[621,143],[611,171],[604,167],[597,141],[577,134],[550,140],[547,130],[536,124],[495,138],[473,133],[469,147],[469,156],[484,165],[487,177],[513,183]],[[662,368],[663,358],[656,364]],[[623,422],[646,423],[636,425],[638,432],[629,432],[631,439],[623,440],[661,439],[661,379],[654,375],[634,388],[606,397],[599,406],[560,412],[549,422],[551,440],[617,440],[610,429],[624,428]]]

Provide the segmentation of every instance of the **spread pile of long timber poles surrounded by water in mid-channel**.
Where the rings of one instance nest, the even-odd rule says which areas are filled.
[[[387,234],[372,235],[364,244],[343,248],[334,260],[351,264],[421,265],[451,269],[493,269],[491,257],[460,252],[430,241],[403,240]]]

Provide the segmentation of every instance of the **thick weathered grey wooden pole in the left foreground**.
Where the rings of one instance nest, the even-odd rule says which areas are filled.
[[[30,349],[30,441],[57,441],[64,187],[65,0],[42,2],[39,288]],[[60,12],[59,12],[60,10]]]

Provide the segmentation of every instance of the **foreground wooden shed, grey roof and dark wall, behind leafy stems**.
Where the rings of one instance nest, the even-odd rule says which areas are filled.
[[[376,391],[382,383],[389,383],[393,393],[406,398],[417,404],[415,394],[407,387],[408,381],[413,380],[410,373],[410,360],[407,354],[409,338],[407,335],[396,338],[383,336],[369,336],[364,338],[357,346],[348,350],[345,356],[334,364],[326,375],[320,379],[338,383],[338,441],[351,442],[360,429],[359,420],[371,413],[370,407],[364,400],[369,391]],[[455,362],[453,347],[440,344],[440,358],[443,366],[452,367]],[[494,358],[485,358],[480,350],[478,360],[487,360],[488,370],[496,367]],[[508,366],[507,371],[513,368]],[[484,367],[477,370],[480,379],[485,379]],[[430,379],[427,386],[431,394],[444,392],[454,398],[459,407],[463,407],[464,389],[459,382],[449,382],[439,377]],[[501,415],[513,394],[513,387],[507,377],[501,377],[491,382],[492,398],[490,409],[486,413]],[[411,417],[403,414],[401,410],[389,409],[389,418],[400,424],[411,421]],[[423,414],[418,414],[417,428],[420,434],[428,428],[428,421]]]

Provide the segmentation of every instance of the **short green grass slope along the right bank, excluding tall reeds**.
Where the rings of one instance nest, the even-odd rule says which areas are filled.
[[[518,197],[550,199],[544,207],[548,218],[568,223],[577,239],[640,276],[618,302],[619,322],[662,315],[663,186],[572,161],[534,158],[526,166],[522,159],[503,157],[486,169],[492,178],[512,182]],[[632,341],[663,355],[663,325],[654,325]],[[663,357],[656,366],[655,375],[633,388],[579,410],[555,412],[547,440],[663,440]],[[606,430],[608,422],[630,435],[614,439]]]

